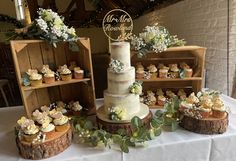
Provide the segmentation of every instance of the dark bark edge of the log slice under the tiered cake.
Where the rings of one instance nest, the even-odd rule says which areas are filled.
[[[142,124],[144,126],[150,127],[150,121],[152,118],[152,113],[149,112],[149,114],[142,119]],[[131,128],[131,122],[128,123],[111,123],[106,122],[97,117],[97,124],[99,128],[102,128],[110,133],[117,133],[119,129],[124,129],[127,134],[132,134],[132,128]]]

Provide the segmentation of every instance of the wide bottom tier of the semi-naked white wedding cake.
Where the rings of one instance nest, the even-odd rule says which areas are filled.
[[[126,109],[127,115],[132,115],[140,110],[139,95],[135,94],[111,94],[107,90],[104,91],[104,107],[106,114],[109,114],[111,107],[123,107]]]

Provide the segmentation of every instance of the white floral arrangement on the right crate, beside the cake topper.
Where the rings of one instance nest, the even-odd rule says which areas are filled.
[[[143,56],[148,51],[163,52],[169,47],[184,44],[184,40],[178,39],[176,35],[170,35],[165,27],[157,23],[153,26],[146,26],[138,36],[131,36],[131,45],[134,50],[138,51],[138,56]]]

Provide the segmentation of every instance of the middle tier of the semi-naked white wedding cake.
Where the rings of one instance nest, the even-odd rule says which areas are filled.
[[[130,67],[121,73],[107,70],[108,92],[112,94],[128,94],[129,86],[135,82],[135,68]]]

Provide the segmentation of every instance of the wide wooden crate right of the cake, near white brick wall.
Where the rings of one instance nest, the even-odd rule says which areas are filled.
[[[194,92],[200,91],[204,87],[204,69],[205,69],[206,48],[199,46],[171,47],[162,53],[148,53],[139,58],[137,54],[132,54],[131,62],[136,66],[137,62],[142,62],[144,67],[150,64],[165,65],[180,62],[186,62],[193,68],[193,77],[191,78],[157,78],[157,79],[138,79],[143,82],[144,91],[158,88],[177,90],[180,88],[191,89]],[[155,108],[155,107],[154,107]]]

